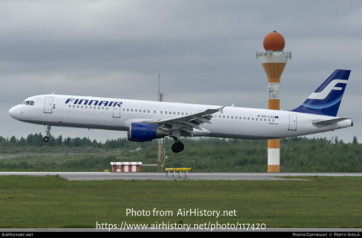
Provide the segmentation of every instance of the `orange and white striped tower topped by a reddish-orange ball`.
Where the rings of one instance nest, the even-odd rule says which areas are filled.
[[[292,52],[283,51],[284,37],[273,31],[265,36],[264,48],[266,52],[256,52],[268,76],[268,109],[279,110],[280,101],[280,76]],[[268,140],[268,172],[279,172],[280,165],[280,141]]]

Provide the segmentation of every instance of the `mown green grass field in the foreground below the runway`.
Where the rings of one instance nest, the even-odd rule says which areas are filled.
[[[293,177],[295,178],[295,177]],[[362,228],[360,177],[303,180],[103,180],[0,177],[1,228],[82,228],[98,223],[266,224],[266,227]],[[173,216],[126,216],[126,209]],[[237,216],[176,216],[178,209]]]

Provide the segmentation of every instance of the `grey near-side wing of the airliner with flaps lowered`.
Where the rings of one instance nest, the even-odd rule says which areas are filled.
[[[170,129],[180,129],[182,131],[186,131],[191,135],[195,135],[193,132],[193,128],[199,129],[202,131],[202,128],[199,125],[203,123],[210,123],[212,115],[215,112],[223,113],[223,109],[226,106],[219,107],[218,109],[207,109],[205,111],[196,112],[189,115],[177,116],[173,118],[162,119],[159,121],[155,121],[153,123],[157,124],[169,124],[172,126]]]

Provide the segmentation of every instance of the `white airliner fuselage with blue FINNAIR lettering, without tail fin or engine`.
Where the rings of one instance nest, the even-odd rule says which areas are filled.
[[[131,122],[168,119],[220,107],[57,94],[38,95],[25,101],[33,103],[12,107],[9,111],[12,118],[39,125],[117,131],[129,131]],[[244,107],[224,107],[223,113],[216,112],[212,116],[212,124],[201,124],[202,130],[194,129],[194,136],[264,140],[304,136],[353,126],[351,120],[343,120],[318,127],[313,122],[337,117]],[[170,125],[164,129],[172,131]],[[186,134],[181,133],[181,136]]]

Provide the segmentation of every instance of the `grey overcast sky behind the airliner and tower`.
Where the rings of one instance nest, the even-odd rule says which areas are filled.
[[[354,127],[315,134],[362,142],[361,1],[0,1],[0,136],[43,133],[10,118],[50,94],[268,108],[256,59],[276,30],[292,51],[281,108],[292,110],[336,69],[352,70],[338,116]],[[105,141],[125,132],[52,128]]]

